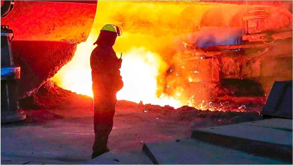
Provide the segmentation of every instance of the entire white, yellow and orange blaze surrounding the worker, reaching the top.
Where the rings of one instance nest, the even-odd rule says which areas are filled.
[[[124,87],[117,93],[117,99],[174,108],[195,106],[184,92],[186,82],[194,81],[193,78],[184,79],[178,70],[177,73],[168,69],[180,61],[181,57],[176,59],[173,55],[185,49],[183,41],[194,42],[193,33],[199,27],[241,26],[242,16],[237,13],[246,6],[222,5],[220,10],[212,10],[216,8],[220,8],[218,4],[192,1],[98,1],[89,37],[77,45],[73,59],[52,80],[65,90],[92,96],[90,54],[100,29],[110,23],[120,26],[123,32],[113,46],[118,58],[122,53],[123,60],[120,71]],[[218,13],[207,12],[210,10]],[[238,22],[232,24],[233,19]],[[167,72],[174,76],[168,78]]]

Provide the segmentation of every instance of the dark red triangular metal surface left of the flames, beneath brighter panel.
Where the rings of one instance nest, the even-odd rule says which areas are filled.
[[[57,41],[12,41],[15,64],[21,66],[19,97],[32,94],[74,55],[77,44]],[[32,51],[33,50],[33,51]]]

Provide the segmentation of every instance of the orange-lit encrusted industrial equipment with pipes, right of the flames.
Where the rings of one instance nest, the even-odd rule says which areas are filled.
[[[186,91],[193,91],[189,92],[189,96],[197,96],[200,99],[198,102],[201,102],[201,99],[217,97],[222,94],[222,81],[237,79],[237,82],[249,80],[261,84],[254,89],[263,91],[260,95],[267,95],[274,81],[290,80],[292,70],[289,68],[292,64],[288,61],[292,59],[292,24],[289,19],[283,19],[281,25],[277,24],[276,15],[281,14],[273,10],[272,13],[267,10],[249,11],[248,15],[242,18],[243,32],[237,33],[236,29],[234,33],[239,35],[231,35],[234,38],[227,37],[230,41],[228,44],[197,44],[183,41],[186,49],[179,54],[181,72],[190,83],[190,89]],[[203,32],[199,33],[203,35],[209,34],[207,31],[231,32],[230,27],[202,27],[201,30]],[[213,35],[205,38],[213,38]],[[250,87],[252,85],[246,88]],[[213,96],[200,96],[202,93],[210,93]],[[253,92],[247,93],[256,96]]]

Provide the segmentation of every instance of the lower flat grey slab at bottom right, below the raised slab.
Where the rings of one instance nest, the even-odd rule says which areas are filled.
[[[195,139],[146,143],[143,146],[154,164],[290,164]]]

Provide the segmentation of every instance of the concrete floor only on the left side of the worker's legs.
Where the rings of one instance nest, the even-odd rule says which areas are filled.
[[[77,163],[90,159],[91,118],[57,119],[44,124],[2,124],[1,156],[43,163]]]

